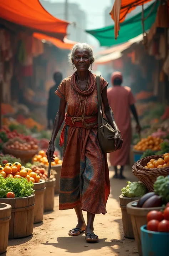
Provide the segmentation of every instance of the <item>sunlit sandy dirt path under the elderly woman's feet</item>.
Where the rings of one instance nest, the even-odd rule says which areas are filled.
[[[76,226],[74,210],[58,210],[58,196],[55,196],[55,210],[46,213],[42,223],[34,226],[32,236],[18,240],[9,240],[7,252],[2,256],[132,256],[138,255],[135,241],[123,236],[119,195],[126,186],[125,180],[113,180],[110,171],[111,194],[107,203],[107,214],[96,215],[94,232],[99,236],[99,243],[89,244],[84,233],[77,237],[68,236],[68,231]],[[135,181],[131,169],[124,172],[127,181]],[[84,212],[86,219],[86,213]]]

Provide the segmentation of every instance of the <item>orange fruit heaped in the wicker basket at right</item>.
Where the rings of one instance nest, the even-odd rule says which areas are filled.
[[[169,153],[165,153],[163,155],[163,158],[159,158],[158,160],[151,159],[147,166],[144,166],[146,169],[152,169],[152,168],[163,168],[163,167],[169,167]]]

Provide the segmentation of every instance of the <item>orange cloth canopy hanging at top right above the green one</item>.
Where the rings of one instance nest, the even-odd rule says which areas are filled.
[[[152,0],[115,0],[110,12],[114,20],[114,35],[117,39],[120,30],[120,23],[126,18],[126,15],[134,10],[138,5],[143,5]]]

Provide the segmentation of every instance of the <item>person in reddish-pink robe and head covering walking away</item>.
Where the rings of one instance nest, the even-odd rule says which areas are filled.
[[[132,94],[130,87],[121,86],[122,85],[122,74],[121,72],[114,72],[111,76],[112,86],[107,90],[107,98],[109,105],[114,113],[114,118],[117,122],[119,130],[123,138],[123,145],[121,150],[110,153],[110,162],[114,166],[115,179],[125,179],[123,176],[124,166],[128,162],[130,145],[132,141],[132,127],[130,110],[133,113],[134,119],[137,123],[136,130],[140,133],[140,124],[138,120],[137,111],[135,109],[134,103],[135,99]],[[117,173],[117,166],[120,165],[120,174]]]

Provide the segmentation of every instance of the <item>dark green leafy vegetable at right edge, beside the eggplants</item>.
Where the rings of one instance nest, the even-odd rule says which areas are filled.
[[[169,177],[159,176],[154,182],[154,192],[162,196],[165,203],[169,202]]]

